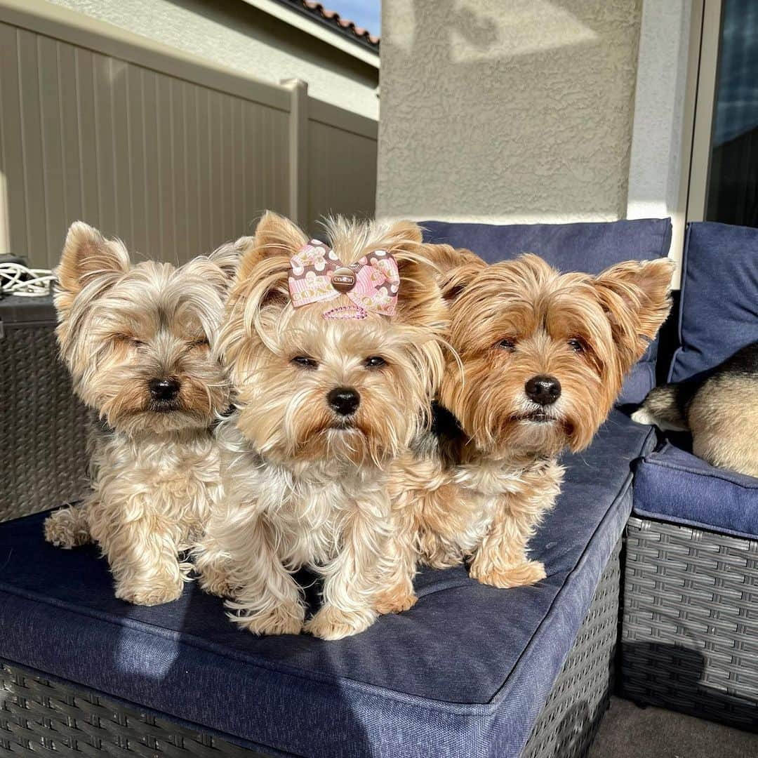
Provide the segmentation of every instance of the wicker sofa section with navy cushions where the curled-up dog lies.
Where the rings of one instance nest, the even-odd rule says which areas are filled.
[[[758,230],[691,224],[682,274],[671,381],[758,340]],[[623,694],[758,731],[758,479],[713,468],[689,443],[668,434],[636,467]]]

